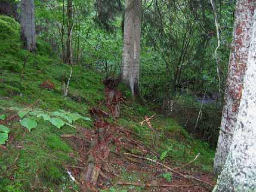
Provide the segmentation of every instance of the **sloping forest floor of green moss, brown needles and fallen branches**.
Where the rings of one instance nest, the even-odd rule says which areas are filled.
[[[70,66],[40,39],[35,54],[22,49],[11,18],[0,16],[0,29],[0,124],[10,129],[0,145],[0,191],[211,190],[208,144],[170,117],[146,121],[155,114],[150,107],[132,101],[122,85],[105,86],[103,76],[86,67],[73,66],[64,97]],[[63,111],[84,119],[56,128],[33,116]],[[36,127],[24,128],[24,117]]]

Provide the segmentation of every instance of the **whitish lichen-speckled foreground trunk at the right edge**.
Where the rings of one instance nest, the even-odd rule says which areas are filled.
[[[256,11],[247,67],[233,143],[214,191],[256,190]]]

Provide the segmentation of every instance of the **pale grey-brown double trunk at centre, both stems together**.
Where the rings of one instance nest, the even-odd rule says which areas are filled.
[[[124,45],[122,55],[121,80],[139,95],[138,80],[140,76],[140,33],[141,0],[125,1]]]

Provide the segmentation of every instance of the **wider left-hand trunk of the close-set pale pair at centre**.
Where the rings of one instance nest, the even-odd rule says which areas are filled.
[[[131,88],[134,95],[134,0],[125,1],[124,45],[121,80]]]

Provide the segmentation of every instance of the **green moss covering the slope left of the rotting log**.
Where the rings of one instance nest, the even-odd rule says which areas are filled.
[[[69,95],[63,97],[63,80],[69,77],[70,66],[66,66],[56,57],[50,46],[38,39],[37,52],[30,53],[22,48],[18,24],[12,18],[0,16],[0,106],[26,108],[36,103],[36,107],[54,112],[63,109],[73,113],[88,113],[91,105],[104,99],[103,79],[100,75],[82,67],[74,67],[70,81]],[[2,34],[3,33],[3,34]],[[2,38],[2,35],[8,38]],[[28,55],[28,57],[27,57]],[[23,80],[24,58],[27,57]],[[53,90],[40,85],[50,80]],[[82,98],[73,100],[74,96]],[[9,113],[1,109],[2,113]],[[10,112],[13,114],[14,112]],[[91,123],[83,120],[76,122],[90,127]],[[0,191],[61,191],[61,186],[77,188],[67,176],[64,165],[76,164],[69,153],[72,147],[63,140],[61,134],[76,134],[76,129],[64,126],[56,129],[44,120],[38,120],[38,127],[32,132],[21,127],[19,122],[11,125],[11,137],[15,145],[10,144],[7,150],[1,151],[0,172],[4,172],[18,154],[16,166],[8,170],[8,174],[0,178]],[[17,148],[16,145],[21,146]],[[10,181],[8,178],[14,178]]]

